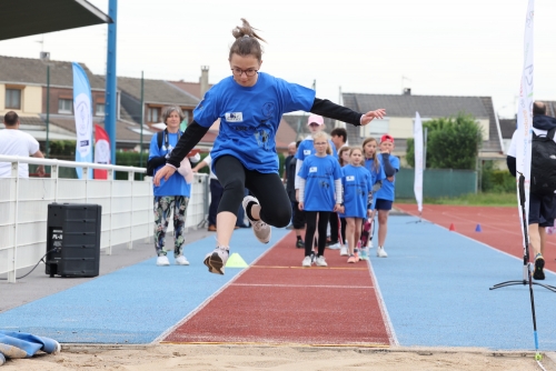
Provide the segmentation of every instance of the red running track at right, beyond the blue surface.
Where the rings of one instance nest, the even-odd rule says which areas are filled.
[[[419,215],[417,204],[397,203],[396,208],[411,215]],[[523,257],[520,212],[516,207],[423,205],[423,219],[450,228],[455,232],[486,243],[514,257]],[[480,232],[476,232],[480,224]],[[545,268],[556,272],[556,235],[546,237]],[[533,261],[533,257],[530,258]]]

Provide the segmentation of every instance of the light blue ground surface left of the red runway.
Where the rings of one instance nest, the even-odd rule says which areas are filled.
[[[250,229],[234,232],[230,252],[249,264],[289,231],[274,229],[268,244]],[[61,343],[149,343],[232,280],[241,269],[211,274],[202,264],[215,238],[188,244],[189,267],[157,267],[156,258],[91,279],[0,314],[0,329],[49,337]]]

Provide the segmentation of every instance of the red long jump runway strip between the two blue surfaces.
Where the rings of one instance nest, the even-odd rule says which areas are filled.
[[[367,262],[326,250],[328,268],[301,268],[288,233],[163,341],[388,347]]]

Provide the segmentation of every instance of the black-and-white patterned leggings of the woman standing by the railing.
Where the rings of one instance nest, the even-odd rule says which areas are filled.
[[[185,195],[155,195],[155,249],[157,255],[166,255],[166,230],[173,209],[173,255],[183,253],[183,227],[189,198]]]

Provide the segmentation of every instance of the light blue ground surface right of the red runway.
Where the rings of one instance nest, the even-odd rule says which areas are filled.
[[[490,291],[522,280],[523,260],[431,223],[390,217],[385,250],[371,264],[400,345],[534,350],[528,285]],[[377,233],[375,233],[376,247]],[[546,272],[543,283],[556,284]],[[534,287],[542,350],[556,350],[556,293]]]

